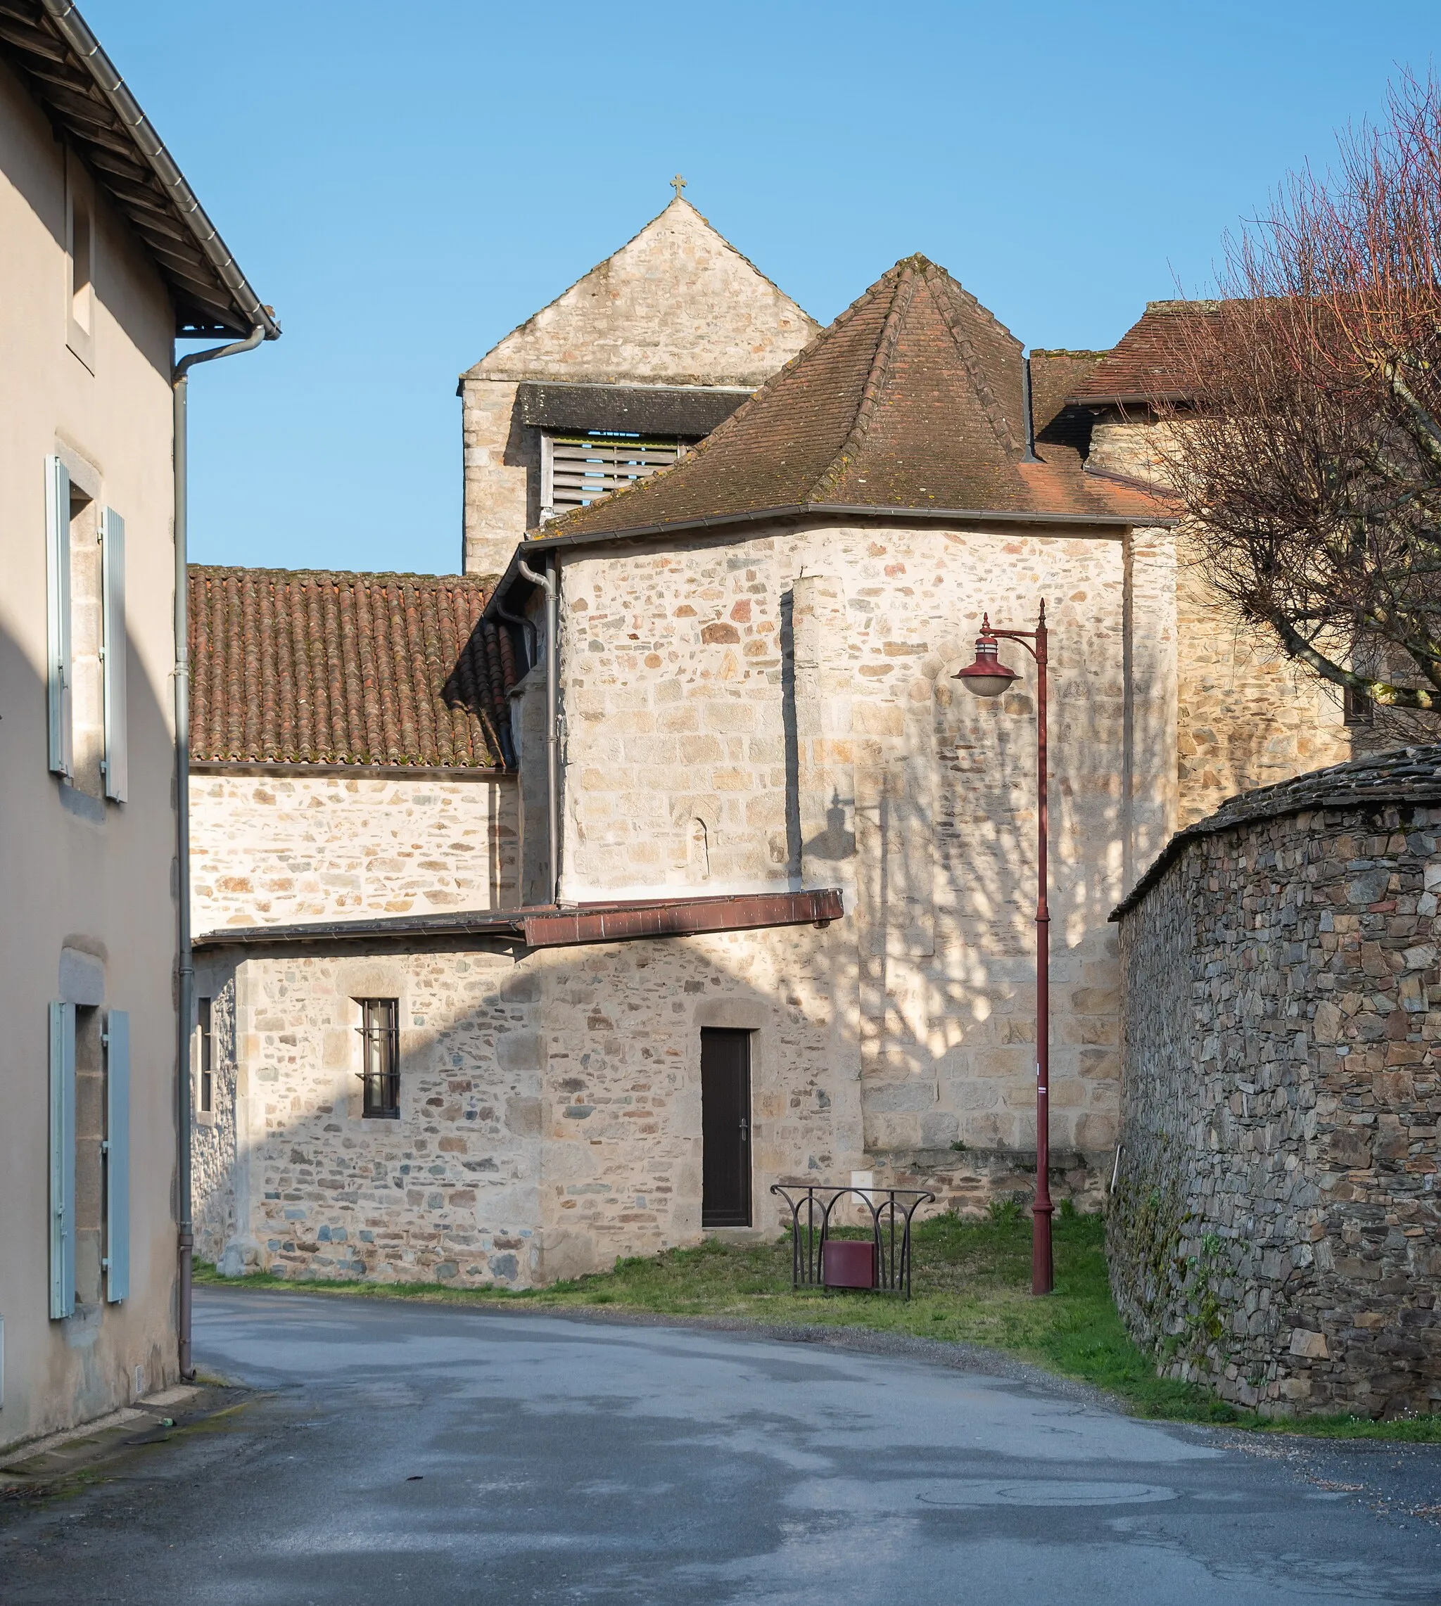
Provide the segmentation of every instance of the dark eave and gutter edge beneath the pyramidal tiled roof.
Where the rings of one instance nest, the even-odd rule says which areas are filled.
[[[1105,475],[1112,479],[1113,475]],[[1134,483],[1134,482],[1126,482]],[[633,541],[654,541],[668,536],[713,536],[715,540],[734,540],[736,528],[747,524],[773,524],[781,519],[876,519],[887,524],[941,524],[941,525],[998,525],[1002,528],[1035,525],[1043,533],[1086,536],[1099,533],[1120,540],[1126,530],[1136,528],[1170,528],[1179,524],[1173,517],[1133,519],[1120,514],[1078,516],[1068,512],[994,512],[983,507],[871,507],[848,503],[797,503],[790,507],[757,507],[745,512],[715,514],[704,519],[676,519],[668,524],[643,524],[631,530],[591,530],[577,535],[537,535],[520,541],[511,556],[506,572],[495,585],[490,601],[485,604],[484,618],[495,620],[500,610],[512,612],[509,596],[519,586],[522,596],[533,589],[530,581],[520,573],[520,564],[535,567],[537,552],[551,552],[572,548],[606,548],[623,549]]]

